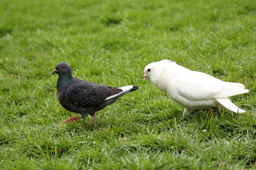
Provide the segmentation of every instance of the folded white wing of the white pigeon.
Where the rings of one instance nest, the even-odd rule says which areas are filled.
[[[247,93],[239,83],[223,82],[198,71],[185,71],[176,77],[177,93],[190,100],[205,100]]]

